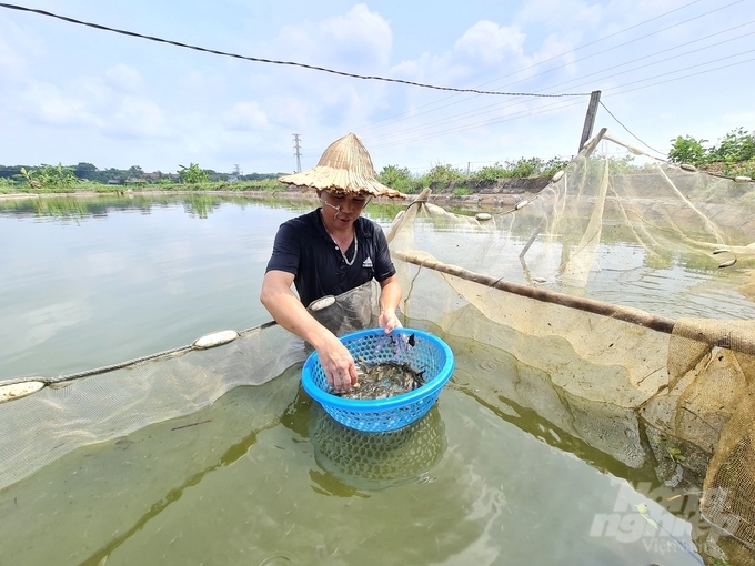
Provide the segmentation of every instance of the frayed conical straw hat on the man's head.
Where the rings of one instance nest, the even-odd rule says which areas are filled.
[[[303,173],[281,176],[279,181],[319,191],[406,198],[404,193],[378,182],[370,154],[353,133],[331,143],[316,166]]]

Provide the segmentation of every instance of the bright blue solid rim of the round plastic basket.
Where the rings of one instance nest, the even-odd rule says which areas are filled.
[[[348,342],[361,338],[363,336],[372,336],[375,334],[384,333],[385,331],[383,329],[369,329],[344,334],[343,336],[339,337],[339,340],[342,343],[344,343],[344,345],[346,345]],[[451,378],[451,374],[453,374],[455,361],[451,347],[449,347],[449,345],[445,342],[443,342],[434,334],[414,329],[395,329],[393,332],[391,332],[391,334],[389,334],[389,336],[396,336],[400,334],[406,335],[414,334],[415,338],[419,337],[424,341],[432,342],[443,351],[443,353],[445,354],[445,363],[441,371],[437,372],[437,375],[435,376],[434,380],[432,380],[429,383],[425,383],[424,385],[417,387],[414,391],[410,391],[409,393],[402,393],[401,395],[396,395],[395,397],[380,400],[343,398],[321,390],[314,383],[312,373],[314,371],[315,364],[318,363],[318,352],[315,351],[312,352],[312,354],[310,354],[310,356],[306,358],[306,362],[304,363],[304,367],[302,368],[302,386],[304,387],[304,391],[314,401],[320,403],[323,407],[333,407],[355,413],[400,408],[407,405],[412,405],[413,403],[424,400],[426,397],[432,397],[433,395],[436,395],[437,393],[440,393],[440,390],[446,384],[446,382]]]

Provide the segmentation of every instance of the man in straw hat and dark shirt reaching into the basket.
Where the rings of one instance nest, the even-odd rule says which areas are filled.
[[[281,224],[260,301],[281,326],[314,346],[328,383],[349,391],[358,378],[354,360],[306,306],[375,279],[381,287],[378,324],[386,333],[401,326],[401,285],[385,234],[361,214],[372,196],[405,195],[375,180],[370,154],[353,133],[329,145],[315,168],[280,181],[313,188],[323,206]]]

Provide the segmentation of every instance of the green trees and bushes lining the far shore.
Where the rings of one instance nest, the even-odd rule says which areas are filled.
[[[705,145],[707,140],[691,135],[671,140],[668,160],[673,163],[688,163],[703,171],[726,176],[755,176],[755,131],[744,128],[728,132],[716,144]],[[521,158],[516,161],[496,162],[476,171],[464,171],[449,164],[437,163],[423,175],[414,175],[407,168],[386,165],[378,179],[383,184],[406,194],[422,191],[425,186],[435,192],[450,191],[456,196],[484,191],[501,180],[552,176],[564,169],[567,161],[553,158]],[[624,169],[631,163],[622,161]],[[91,163],[78,165],[48,165],[34,168],[0,165],[0,194],[8,193],[115,193],[132,191],[197,191],[197,192],[246,192],[264,191],[278,193],[289,188],[278,181],[284,173],[218,173],[204,170],[197,163],[179,165],[178,173],[144,173],[134,165],[128,170],[99,170]]]

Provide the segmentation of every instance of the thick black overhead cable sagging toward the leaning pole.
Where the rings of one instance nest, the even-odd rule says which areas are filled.
[[[312,64],[306,64],[306,63],[298,63],[294,61],[278,61],[274,59],[261,59],[258,57],[248,57],[248,55],[240,55],[238,53],[229,53],[226,51],[219,51],[217,49],[208,49],[199,46],[192,46],[189,43],[181,43],[180,41],[172,41],[168,39],[162,39],[162,38],[155,38],[154,36],[144,36],[142,33],[137,33],[134,31],[128,31],[128,30],[121,30],[118,28],[109,28],[108,26],[101,26],[99,23],[92,23],[92,22],[85,22],[82,20],[77,20],[74,18],[68,18],[66,16],[59,16],[57,13],[48,12],[44,10],[37,10],[33,8],[26,8],[23,6],[16,6],[16,4],[7,4],[7,3],[0,3],[0,8],[7,8],[9,10],[18,10],[22,12],[32,12],[32,13],[38,13],[40,16],[47,16],[50,18],[57,18],[59,20],[62,20],[64,22],[69,23],[77,23],[79,26],[85,26],[88,28],[93,28],[97,30],[102,30],[102,31],[111,31],[113,33],[120,33],[121,36],[128,36],[131,38],[139,38],[139,39],[145,39],[149,41],[155,41],[158,43],[168,43],[170,46],[174,47],[180,47],[184,49],[192,49],[194,51],[201,51],[204,53],[211,53],[213,55],[221,55],[221,57],[230,57],[233,59],[242,59],[244,61],[253,61],[256,63],[270,63],[270,64],[281,64],[281,65],[290,65],[290,67],[301,67],[303,69],[310,69],[313,71],[321,71],[321,72],[326,72],[331,74],[338,74],[341,77],[349,77],[352,79],[362,79],[362,80],[371,80],[371,81],[383,81],[383,82],[395,82],[400,84],[409,84],[411,87],[420,87],[422,89],[434,89],[434,90],[442,90],[442,91],[451,91],[451,92],[472,92],[474,94],[490,94],[490,95],[496,95],[496,97],[538,97],[538,98],[562,98],[562,97],[590,97],[590,92],[574,92],[574,93],[562,93],[562,94],[538,94],[535,92],[501,92],[501,91],[491,91],[491,90],[476,90],[476,89],[456,89],[453,87],[439,87],[435,84],[426,84],[422,82],[413,82],[413,81],[405,81],[403,79],[391,79],[386,77],[378,77],[378,75],[365,75],[365,74],[355,74],[355,73],[349,73],[345,71],[336,71],[334,69],[328,69],[325,67],[316,67]]]

